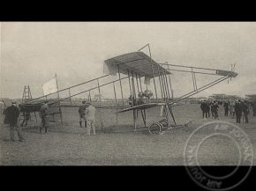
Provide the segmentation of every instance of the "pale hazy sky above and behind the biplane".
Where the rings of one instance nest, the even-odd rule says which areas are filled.
[[[199,96],[256,93],[253,22],[8,22],[1,23],[1,97],[21,98],[24,85],[34,97],[41,96],[41,85],[55,73],[60,89],[100,77],[104,60],[147,43],[156,62],[221,70],[236,63],[238,76],[231,83]],[[192,90],[191,75],[173,73],[171,80],[177,96]],[[198,77],[198,85],[210,80]],[[106,97],[113,97],[110,88]]]

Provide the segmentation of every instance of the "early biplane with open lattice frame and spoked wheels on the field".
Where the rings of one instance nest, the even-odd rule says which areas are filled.
[[[142,49],[148,48],[149,55],[144,53]],[[185,72],[191,73],[193,90],[187,92],[184,95],[174,98],[172,82],[170,75],[172,72]],[[61,107],[74,107],[72,104],[72,97],[76,97],[80,94],[89,93],[88,99],[91,99],[91,94],[93,90],[98,90],[98,94],[101,94],[101,88],[106,85],[113,84],[113,91],[115,95],[115,101],[117,103],[117,93],[115,83],[119,83],[121,92],[121,104],[116,104],[113,107],[106,107],[100,103],[96,106],[98,108],[117,108],[117,114],[132,112],[133,113],[133,126],[134,130],[137,130],[138,114],[141,114],[144,123],[144,128],[147,128],[151,134],[160,134],[164,129],[176,129],[178,127],[186,127],[189,122],[185,124],[177,124],[175,116],[173,113],[173,107],[180,105],[181,101],[191,97],[192,95],[202,92],[207,88],[212,87],[215,84],[219,84],[226,79],[231,79],[232,77],[237,77],[237,73],[233,70],[215,70],[208,68],[184,66],[169,64],[168,62],[155,62],[151,56],[151,50],[149,44],[140,48],[136,52],[118,55],[116,57],[110,58],[104,62],[104,76],[97,77],[87,82],[76,84],[62,90],[57,90],[56,92],[51,92],[48,95],[41,96],[37,99],[30,99],[20,105],[23,110],[28,112],[38,111],[41,106],[41,102],[52,94],[57,94],[56,100],[51,100],[49,106],[59,108],[54,114],[60,114],[62,121],[62,111]],[[121,75],[123,77],[121,77]],[[210,83],[202,86],[198,86],[196,75],[214,75],[218,76],[217,79]],[[116,77],[114,80],[108,81],[108,77]],[[144,83],[141,83],[144,78]],[[102,79],[103,84],[99,83]],[[128,80],[129,86],[129,99],[124,98],[123,92],[123,82]],[[96,82],[97,84],[91,88],[83,88],[83,91],[71,93],[74,88],[81,85],[87,85],[88,83]],[[148,85],[153,82],[153,91],[148,90]],[[144,88],[143,88],[144,87]],[[60,92],[68,92],[68,96],[65,98],[60,98]],[[69,104],[62,104],[64,100],[69,100]],[[160,121],[151,121],[147,124],[147,109],[152,107],[158,107],[162,111],[162,119]],[[101,112],[102,114],[102,112]],[[103,121],[102,121],[103,123]],[[103,124],[102,124],[103,126]]]

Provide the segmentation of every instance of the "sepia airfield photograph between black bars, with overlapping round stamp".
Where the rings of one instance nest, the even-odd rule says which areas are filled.
[[[182,165],[198,184],[195,166],[245,166],[242,181],[256,165],[255,22],[0,33],[0,165]]]

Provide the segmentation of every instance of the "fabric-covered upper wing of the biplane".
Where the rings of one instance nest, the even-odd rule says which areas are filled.
[[[120,73],[125,75],[127,75],[127,71],[129,70],[137,73],[140,77],[152,78],[151,63],[153,65],[154,77],[160,76],[160,73],[170,74],[168,70],[162,68],[159,63],[154,62],[153,59],[143,52],[133,52],[110,58],[105,61],[105,67],[109,68],[108,74],[110,75],[117,74],[117,67],[119,66]]]

